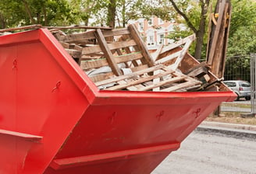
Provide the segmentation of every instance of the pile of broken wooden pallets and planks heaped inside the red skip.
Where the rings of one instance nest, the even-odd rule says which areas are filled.
[[[52,33],[99,89],[196,91],[215,82],[206,64],[187,53],[194,35],[150,54],[134,25]]]

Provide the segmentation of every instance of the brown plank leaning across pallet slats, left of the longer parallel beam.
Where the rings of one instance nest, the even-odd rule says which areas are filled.
[[[105,40],[105,37],[101,33],[101,30],[99,29],[96,30],[96,36],[97,36],[98,44],[100,45],[101,50],[104,52],[105,57],[107,58],[109,67],[112,68],[112,71],[114,72],[115,75],[122,75],[122,71],[117,66],[115,58],[111,50],[109,50],[108,44]]]

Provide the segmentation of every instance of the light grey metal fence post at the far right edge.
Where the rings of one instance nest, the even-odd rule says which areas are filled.
[[[256,117],[256,54],[251,54],[251,114]]]

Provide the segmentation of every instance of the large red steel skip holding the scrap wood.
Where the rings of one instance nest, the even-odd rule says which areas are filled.
[[[0,173],[150,173],[233,92],[98,91],[48,30],[0,37]]]

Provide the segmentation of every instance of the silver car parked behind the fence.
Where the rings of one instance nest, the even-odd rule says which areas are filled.
[[[245,98],[246,100],[251,99],[251,84],[249,82],[241,80],[229,80],[224,81],[224,84],[227,85],[229,89],[232,89],[233,92],[236,92],[236,100],[239,100],[240,98]]]

